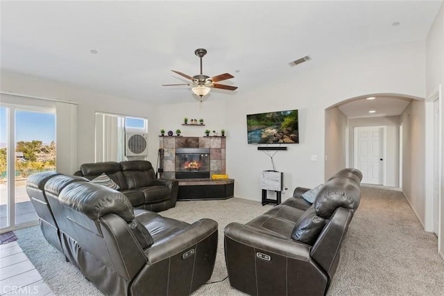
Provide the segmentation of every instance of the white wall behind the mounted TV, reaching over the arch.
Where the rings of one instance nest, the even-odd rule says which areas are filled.
[[[259,175],[271,169],[269,157],[247,143],[246,114],[299,110],[300,143],[288,145],[289,150],[279,151],[274,157],[276,169],[284,172],[284,186],[289,189],[282,195],[284,200],[296,186],[312,187],[324,182],[325,109],[363,94],[424,98],[424,57],[424,42],[351,51],[330,63],[317,63],[316,57],[312,57],[313,60],[291,69],[282,64],[282,71],[289,71],[289,75],[271,79],[263,87],[248,89],[237,85],[236,96],[222,99],[225,105],[208,98],[203,104],[203,117],[206,121],[217,119],[208,124],[209,129],[220,122],[228,130],[227,173],[235,179],[234,195],[260,200]],[[198,103],[161,107],[160,114],[166,112],[166,118],[159,119],[159,129],[168,128],[163,126],[167,121],[173,122],[175,128],[184,116],[193,116],[191,111],[195,109]],[[311,155],[318,155],[318,161],[311,161]]]

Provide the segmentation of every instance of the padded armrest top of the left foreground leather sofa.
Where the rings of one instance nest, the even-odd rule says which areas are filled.
[[[203,241],[212,234],[216,234],[217,236],[217,227],[216,221],[204,218],[185,227],[182,231],[172,236],[167,236],[160,241],[156,241],[151,247],[145,250],[145,254],[148,256],[148,263],[154,264],[174,254],[184,252],[189,249],[189,247],[200,243],[200,241]]]

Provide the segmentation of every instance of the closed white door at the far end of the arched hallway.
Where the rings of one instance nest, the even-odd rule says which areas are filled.
[[[362,183],[384,184],[384,127],[355,128],[355,168],[362,172]]]

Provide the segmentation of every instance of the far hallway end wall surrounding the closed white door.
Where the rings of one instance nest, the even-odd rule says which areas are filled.
[[[349,119],[348,127],[349,127],[349,164],[353,166],[355,163],[354,159],[354,143],[355,143],[355,133],[354,128],[359,126],[378,126],[385,125],[386,128],[386,147],[387,147],[387,155],[386,155],[386,176],[385,180],[386,186],[399,186],[399,165],[400,165],[400,156],[399,156],[399,148],[400,148],[400,116],[381,116],[381,117],[367,117],[361,119]]]

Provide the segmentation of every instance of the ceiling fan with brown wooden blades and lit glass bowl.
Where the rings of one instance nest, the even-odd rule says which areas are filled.
[[[206,49],[196,49],[196,51],[194,51],[194,54],[197,55],[200,58],[200,74],[195,75],[193,77],[184,74],[182,72],[176,71],[176,70],[171,70],[176,74],[179,74],[182,77],[185,77],[189,80],[191,80],[191,82],[189,83],[179,83],[179,84],[173,84],[175,85],[192,85],[193,88],[191,88],[191,90],[193,91],[194,94],[196,94],[196,96],[200,96],[200,102],[202,102],[202,97],[207,95],[210,92],[210,87],[216,88],[216,89],[227,89],[227,90],[236,90],[237,87],[234,87],[232,85],[221,85],[219,83],[219,81],[222,80],[227,80],[230,78],[234,78],[234,76],[232,76],[230,73],[223,73],[221,75],[217,75],[217,76],[207,76],[204,75],[202,73],[202,58],[207,54],[207,50]],[[162,85],[164,87],[169,87],[169,86],[173,86],[173,85]]]

